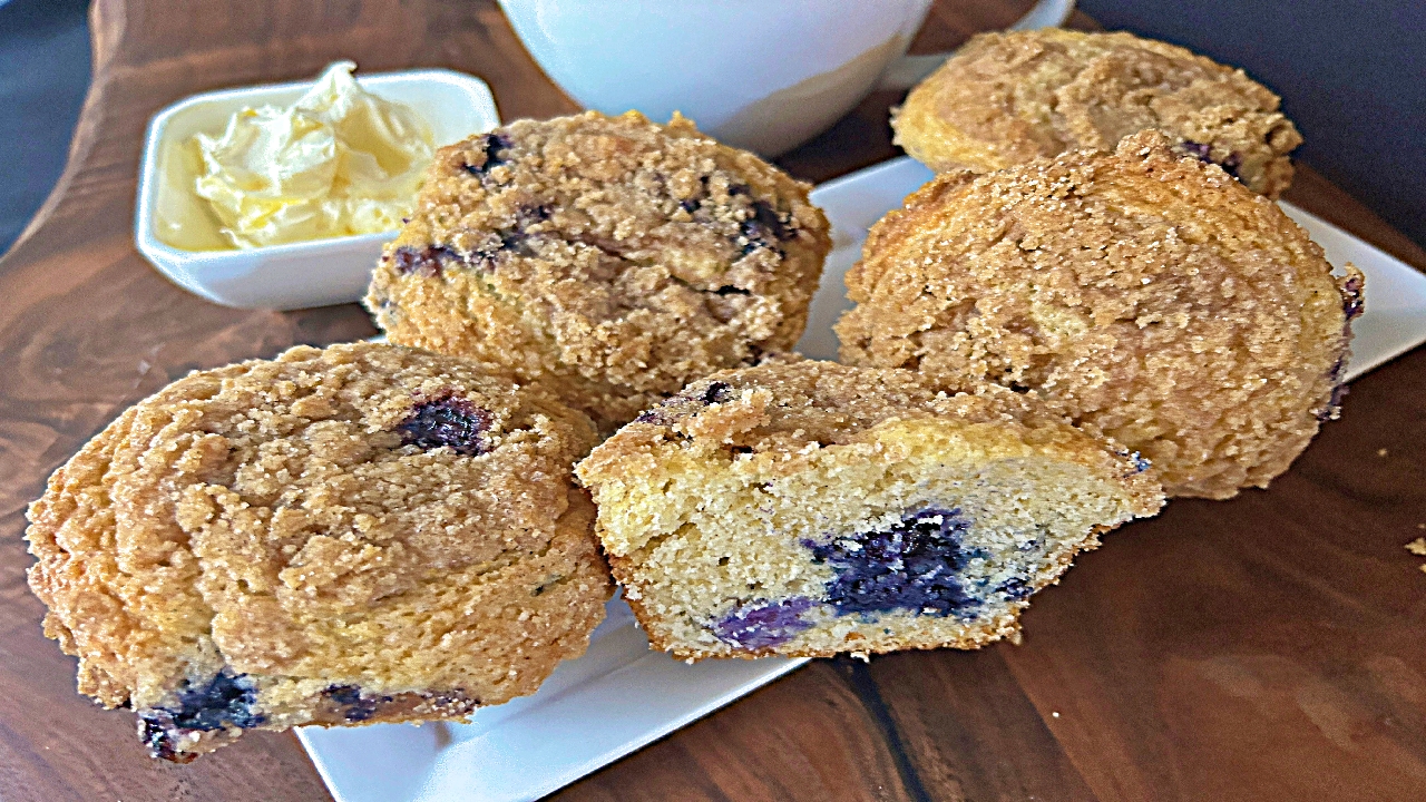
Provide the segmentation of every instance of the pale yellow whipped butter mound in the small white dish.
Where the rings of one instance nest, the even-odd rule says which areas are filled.
[[[401,227],[435,153],[408,106],[362,90],[338,61],[291,108],[244,108],[197,134],[194,190],[231,245],[255,248]]]

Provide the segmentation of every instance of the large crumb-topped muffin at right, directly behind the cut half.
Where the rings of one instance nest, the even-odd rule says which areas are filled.
[[[847,273],[843,361],[1044,395],[1169,495],[1266,487],[1336,417],[1362,277],[1156,131],[948,173]]]

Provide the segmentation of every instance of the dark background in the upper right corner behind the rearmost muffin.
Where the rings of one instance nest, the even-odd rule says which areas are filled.
[[[1104,27],[1242,67],[1282,96],[1293,157],[1426,247],[1426,1],[1081,0]]]

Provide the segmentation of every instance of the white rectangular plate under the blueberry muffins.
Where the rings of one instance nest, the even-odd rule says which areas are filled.
[[[850,304],[843,273],[867,228],[931,174],[897,158],[823,184],[813,201],[833,224],[834,250],[799,350],[836,358],[831,324]],[[1426,275],[1301,208],[1283,208],[1332,264],[1366,274],[1366,313],[1353,325],[1348,375],[1426,341]],[[650,652],[619,598],[589,652],[566,662],[533,696],[476,711],[468,725],[305,728],[298,738],[338,802],[525,801],[562,788],[787,674],[806,661],[703,661]]]

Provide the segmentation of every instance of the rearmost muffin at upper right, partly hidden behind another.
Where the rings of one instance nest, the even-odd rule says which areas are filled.
[[[935,171],[988,173],[1145,128],[1255,193],[1292,183],[1302,144],[1279,98],[1242,70],[1128,33],[1062,29],[970,40],[893,114],[896,143]]]

